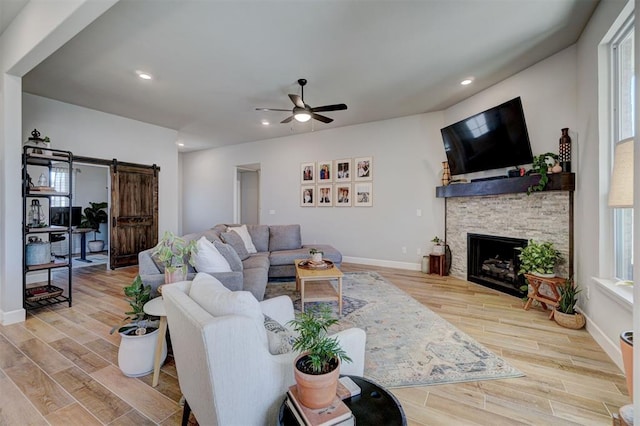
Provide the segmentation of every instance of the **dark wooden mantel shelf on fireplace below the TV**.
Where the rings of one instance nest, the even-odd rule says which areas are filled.
[[[540,180],[539,175],[505,179],[483,180],[469,183],[455,183],[436,187],[437,198],[474,197],[481,195],[514,194],[527,192],[527,188]],[[549,175],[545,191],[570,191],[576,187],[575,173],[554,173]]]

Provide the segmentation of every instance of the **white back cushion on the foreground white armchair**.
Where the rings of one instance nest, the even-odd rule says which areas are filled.
[[[260,303],[250,292],[231,291],[209,274],[196,274],[191,283],[189,297],[214,317],[242,315],[264,327],[264,314]]]

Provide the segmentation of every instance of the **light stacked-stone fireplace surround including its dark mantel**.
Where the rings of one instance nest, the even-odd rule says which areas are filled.
[[[519,189],[503,188],[508,186],[506,181],[531,177],[502,179],[505,182],[492,183],[488,190],[486,186],[473,182],[449,185],[464,188],[437,188],[437,196],[445,198],[445,240],[452,254],[451,275],[467,279],[467,234],[484,234],[551,241],[564,260],[556,273],[570,276],[573,272],[574,175],[562,175],[571,178],[569,184],[552,185],[550,182],[552,190],[531,195],[521,192],[528,186],[524,182]],[[564,182],[564,177],[562,179]],[[556,178],[559,180],[560,175]],[[474,185],[477,191],[470,190]],[[498,187],[500,189],[496,190]],[[481,195],[483,192],[489,194]]]

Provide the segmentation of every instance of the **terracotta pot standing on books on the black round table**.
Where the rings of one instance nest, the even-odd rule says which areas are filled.
[[[300,402],[309,408],[328,407],[336,396],[338,377],[340,376],[340,362],[330,373],[306,374],[295,367],[298,360],[306,355],[306,353],[299,355],[293,362]]]

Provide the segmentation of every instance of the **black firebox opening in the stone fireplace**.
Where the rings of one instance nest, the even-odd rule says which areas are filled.
[[[518,275],[518,248],[528,241],[493,235],[467,234],[467,280],[523,297],[524,277]]]

